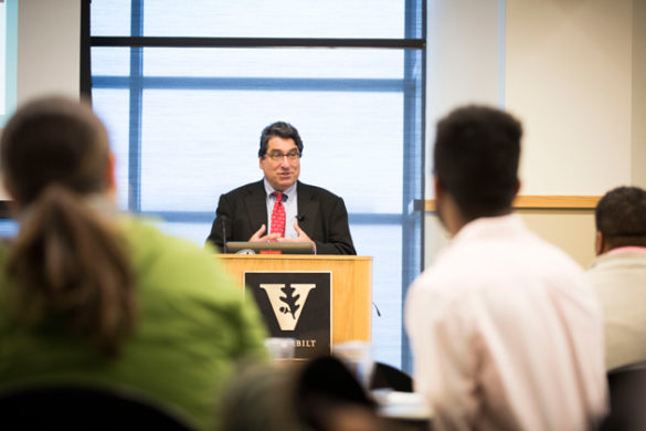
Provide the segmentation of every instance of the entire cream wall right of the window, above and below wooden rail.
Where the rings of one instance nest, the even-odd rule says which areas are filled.
[[[440,30],[466,28],[468,31],[444,30],[430,34],[434,39],[428,44],[427,98],[431,105],[435,103],[442,109],[428,109],[427,155],[432,154],[438,111],[444,111],[440,113],[443,115],[469,99],[496,104],[494,94],[504,94],[505,107],[523,122],[526,133],[521,195],[600,196],[623,183],[644,186],[646,78],[642,76],[646,74],[646,6],[643,2],[435,0],[431,3],[430,28],[441,22]],[[472,15],[476,8],[487,9],[479,20]],[[432,17],[433,12],[441,13]],[[491,35],[493,28],[504,33],[504,46]],[[441,53],[462,52],[465,45],[478,50],[465,51],[460,73],[453,75],[443,73],[444,67],[447,71],[454,67],[452,57],[434,60],[437,45],[442,46]],[[504,65],[497,70],[497,78],[502,83],[490,76],[494,64]],[[483,87],[474,91],[464,85],[466,82],[477,82]],[[593,256],[593,211],[519,212],[530,229],[564,249],[581,265],[587,265]],[[426,214],[425,222],[428,265],[447,238],[434,214]]]

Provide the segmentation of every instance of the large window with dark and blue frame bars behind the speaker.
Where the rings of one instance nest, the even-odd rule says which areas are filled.
[[[423,9],[86,1],[82,88],[110,133],[120,206],[203,244],[220,195],[262,178],[263,127],[292,123],[300,180],[345,199],[358,253],[374,257],[375,357],[405,367],[403,295],[422,266]]]

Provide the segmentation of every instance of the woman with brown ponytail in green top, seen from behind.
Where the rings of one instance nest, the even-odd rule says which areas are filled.
[[[0,169],[20,223],[0,245],[0,389],[125,387],[216,428],[236,361],[265,358],[264,326],[211,254],[117,211],[92,109],[29,103]]]

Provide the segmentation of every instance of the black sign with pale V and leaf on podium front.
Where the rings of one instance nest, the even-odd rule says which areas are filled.
[[[296,339],[296,357],[330,351],[330,272],[246,272],[272,337]]]

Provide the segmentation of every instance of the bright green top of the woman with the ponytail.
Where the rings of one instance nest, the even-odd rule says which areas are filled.
[[[244,357],[266,359],[253,301],[208,251],[133,218],[118,223],[136,274],[137,326],[108,359],[53,326],[28,330],[9,317],[0,273],[0,388],[78,382],[126,387],[166,403],[203,430],[215,420],[225,380]],[[212,250],[209,250],[212,251]],[[0,264],[7,260],[0,246]]]

